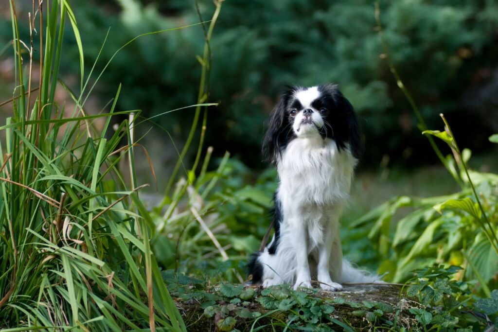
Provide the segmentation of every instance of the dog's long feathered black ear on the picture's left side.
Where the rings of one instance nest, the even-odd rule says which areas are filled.
[[[268,128],[263,138],[262,154],[263,159],[272,164],[276,164],[282,149],[285,147],[289,138],[289,118],[285,112],[287,102],[292,95],[292,90],[289,89],[280,97],[280,101],[273,109],[268,121]]]

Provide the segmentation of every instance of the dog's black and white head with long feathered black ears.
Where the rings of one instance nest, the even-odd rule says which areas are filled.
[[[333,139],[339,150],[360,156],[363,144],[355,111],[336,85],[289,88],[271,115],[263,155],[276,163],[292,139],[309,137]]]

